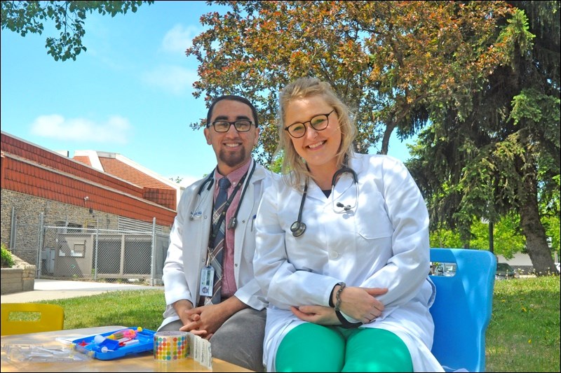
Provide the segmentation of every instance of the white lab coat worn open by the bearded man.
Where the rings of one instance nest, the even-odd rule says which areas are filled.
[[[251,167],[250,164],[250,169]],[[263,192],[262,183],[270,175],[270,171],[257,164],[251,179],[245,181],[249,183],[248,190],[238,211],[234,243],[234,278],[238,288],[234,295],[241,302],[257,310],[264,309],[267,303],[253,274],[252,261],[255,253],[253,220]],[[205,179],[196,181],[184,190],[177,207],[177,216],[170,233],[168,255],[163,266],[162,280],[166,307],[160,328],[179,320],[171,305],[174,302],[189,300],[192,304],[198,304],[201,269],[205,265],[212,223],[213,188],[207,190],[208,183],[206,183],[201,190],[201,195],[197,194]],[[245,186],[243,185],[242,188]],[[191,213],[196,216],[193,220],[191,220]]]

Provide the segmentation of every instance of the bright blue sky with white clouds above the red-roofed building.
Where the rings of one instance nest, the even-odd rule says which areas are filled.
[[[221,11],[205,1],[156,1],[126,15],[88,14],[86,52],[65,62],[47,55],[42,35],[1,30],[0,123],[3,132],[49,150],[119,153],[182,185],[208,174],[216,157],[193,97],[197,61],[186,57],[203,31],[199,18]],[[407,160],[394,136],[389,154]]]

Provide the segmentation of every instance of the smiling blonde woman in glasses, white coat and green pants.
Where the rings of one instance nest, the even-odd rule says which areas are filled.
[[[428,213],[405,166],[353,153],[349,110],[316,78],[281,92],[278,132],[283,177],[264,187],[253,262],[267,371],[443,372]]]

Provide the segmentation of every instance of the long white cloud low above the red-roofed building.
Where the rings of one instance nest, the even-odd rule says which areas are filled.
[[[93,122],[84,118],[65,119],[62,115],[41,115],[31,125],[31,132],[50,139],[95,141],[99,143],[127,143],[130,123],[119,115],[107,122]]]

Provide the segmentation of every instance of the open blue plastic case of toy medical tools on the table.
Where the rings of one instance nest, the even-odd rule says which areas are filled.
[[[132,326],[130,328],[124,329],[133,329],[137,330],[138,327]],[[119,332],[117,329],[111,332],[106,332],[101,334],[102,337],[109,337],[109,335],[114,334],[115,332]],[[142,329],[142,331],[136,332],[135,339],[138,339],[140,342],[137,344],[131,344],[129,346],[119,346],[119,342],[112,340],[112,339],[104,339],[101,343],[96,343],[94,338],[96,336],[90,336],[86,338],[79,338],[74,339],[72,343],[76,350],[80,351],[81,353],[86,353],[89,356],[93,356],[98,360],[112,360],[117,358],[122,358],[123,356],[130,355],[131,353],[141,353],[146,351],[154,351],[154,330],[149,329]],[[107,347],[107,352],[102,352],[102,347]],[[112,350],[112,351],[111,351]]]

